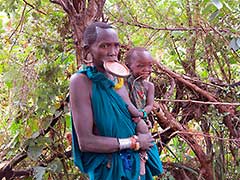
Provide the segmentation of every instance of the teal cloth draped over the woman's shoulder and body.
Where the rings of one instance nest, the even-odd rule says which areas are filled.
[[[101,136],[128,138],[135,134],[136,124],[131,120],[127,105],[113,89],[109,80],[95,67],[87,67],[84,73],[92,81],[92,109],[94,123]],[[79,90],[81,93],[81,89]],[[84,103],[84,102],[83,102]],[[74,163],[90,180],[138,180],[140,173],[139,152],[123,150],[114,153],[81,152],[72,121],[72,151]],[[151,180],[158,175],[159,166],[152,158],[158,158],[156,145],[149,151],[146,175]],[[160,161],[160,160],[159,160]]]

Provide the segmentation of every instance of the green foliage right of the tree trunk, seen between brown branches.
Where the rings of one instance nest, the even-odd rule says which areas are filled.
[[[231,86],[240,79],[238,44],[240,6],[236,4],[237,1],[218,0],[198,2],[119,0],[107,2],[105,11],[108,15],[106,19],[114,22],[119,29],[124,44],[147,47],[156,60],[176,72],[194,77],[196,83],[201,80],[212,84],[212,87],[205,88],[216,95],[219,101],[239,102],[237,95],[240,90],[239,85]],[[156,84],[162,91],[164,82],[157,81]],[[177,92],[175,93],[172,99],[177,99]],[[201,100],[201,97],[196,97],[192,92],[182,90],[181,93],[187,94],[187,98]],[[157,93],[159,98],[162,95],[162,92]],[[176,108],[171,104],[168,105],[173,110]],[[191,107],[190,104],[188,110],[188,112],[180,112],[177,120],[181,121],[186,116],[184,113],[203,113],[203,110],[199,111],[199,108]],[[239,177],[236,173],[237,167],[226,168],[231,167],[229,146],[233,143],[227,140],[229,134],[223,123],[227,114],[218,112],[215,107],[207,109],[207,112],[193,117],[194,121],[189,122],[188,127],[192,131],[204,131],[203,124],[207,124],[208,132],[216,136],[216,139],[212,139],[212,150],[215,154],[213,162],[214,169],[220,174],[216,174],[215,177],[237,179]],[[239,112],[237,114],[238,122]],[[205,144],[204,137],[198,138],[207,152],[208,145]],[[163,162],[182,162],[187,166],[198,168],[197,164],[193,164],[196,163],[193,162],[195,159],[193,151],[178,138],[172,139],[167,148],[163,149],[162,159]],[[238,164],[238,160],[235,163]]]

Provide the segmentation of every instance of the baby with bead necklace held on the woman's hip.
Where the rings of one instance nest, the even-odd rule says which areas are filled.
[[[152,72],[153,58],[145,48],[136,47],[127,52],[125,62],[131,75],[117,92],[127,103],[132,119],[137,123],[137,133],[150,133],[147,115],[153,108],[154,84],[148,81],[148,77]],[[146,151],[141,151],[140,157],[140,175],[144,175],[148,159]]]

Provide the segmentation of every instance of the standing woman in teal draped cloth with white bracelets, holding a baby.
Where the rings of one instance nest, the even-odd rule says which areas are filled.
[[[91,180],[138,180],[138,151],[149,150],[154,139],[135,135],[136,124],[103,67],[104,61],[117,61],[116,31],[106,23],[91,24],[84,33],[84,50],[94,66],[70,80],[74,162]],[[147,176],[152,179],[151,172],[141,178]]]

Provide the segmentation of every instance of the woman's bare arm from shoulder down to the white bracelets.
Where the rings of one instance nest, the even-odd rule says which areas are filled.
[[[119,148],[116,138],[94,134],[91,106],[91,82],[83,74],[75,74],[70,80],[70,103],[73,123],[81,151],[110,153]]]

